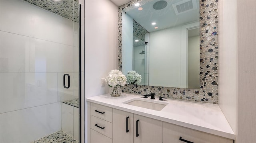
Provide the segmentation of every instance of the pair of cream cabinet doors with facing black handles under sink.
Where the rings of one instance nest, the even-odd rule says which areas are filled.
[[[162,143],[162,121],[113,109],[113,143]]]

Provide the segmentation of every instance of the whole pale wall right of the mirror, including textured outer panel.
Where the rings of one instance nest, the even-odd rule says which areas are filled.
[[[255,0],[221,0],[219,5],[219,106],[236,143],[255,142],[255,5]]]

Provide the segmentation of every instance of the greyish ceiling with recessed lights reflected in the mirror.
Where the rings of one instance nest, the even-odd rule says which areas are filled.
[[[173,4],[181,2],[180,0],[165,0],[168,3],[167,6],[161,10],[156,10],[153,8],[153,5],[158,1],[159,0],[143,0],[140,2],[140,6],[130,6],[124,9],[124,12],[149,32],[191,22],[199,22],[199,0],[192,0],[196,2],[195,10],[190,10],[178,15],[176,15],[174,11]],[[143,8],[143,10],[138,10],[139,7]],[[156,22],[156,25],[152,25],[152,22]],[[154,29],[154,27],[158,27],[158,29]]]

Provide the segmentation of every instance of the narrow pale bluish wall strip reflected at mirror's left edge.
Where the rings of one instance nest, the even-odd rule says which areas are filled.
[[[132,18],[122,12],[122,72],[124,75],[127,74],[128,71],[132,71],[132,43],[133,43],[133,31],[132,28]]]

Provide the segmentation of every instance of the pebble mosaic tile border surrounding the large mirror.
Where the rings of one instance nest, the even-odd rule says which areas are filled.
[[[132,0],[118,11],[118,65],[122,71],[122,12],[142,0]],[[200,0],[200,89],[126,84],[123,92],[218,104],[218,0]]]

